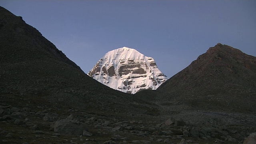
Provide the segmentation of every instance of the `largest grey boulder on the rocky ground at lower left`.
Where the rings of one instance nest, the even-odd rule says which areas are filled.
[[[52,128],[54,132],[61,134],[80,136],[83,135],[84,130],[86,130],[86,124],[76,120],[62,119],[56,122],[52,122],[50,128]]]

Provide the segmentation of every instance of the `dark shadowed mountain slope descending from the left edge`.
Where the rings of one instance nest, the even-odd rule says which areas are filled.
[[[36,28],[2,7],[0,93],[29,97],[39,103],[111,112],[126,111],[123,101],[134,102],[132,95],[113,90],[85,74]]]

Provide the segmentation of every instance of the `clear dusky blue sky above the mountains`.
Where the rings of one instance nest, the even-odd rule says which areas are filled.
[[[0,0],[88,73],[134,48],[169,78],[218,42],[256,56],[256,0]]]

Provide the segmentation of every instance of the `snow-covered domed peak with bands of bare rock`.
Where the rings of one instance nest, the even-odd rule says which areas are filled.
[[[106,53],[88,75],[110,88],[130,94],[155,90],[168,80],[153,58],[127,47]]]

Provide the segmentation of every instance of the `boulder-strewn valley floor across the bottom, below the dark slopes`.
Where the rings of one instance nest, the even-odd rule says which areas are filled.
[[[6,144],[238,144],[256,131],[255,115],[104,112],[52,105],[17,93],[0,99],[0,139]]]

